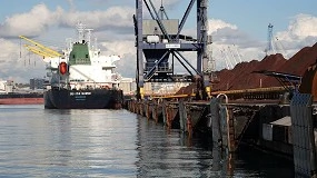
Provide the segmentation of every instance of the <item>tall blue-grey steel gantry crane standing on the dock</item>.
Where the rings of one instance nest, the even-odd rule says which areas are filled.
[[[186,3],[186,2],[182,2]],[[182,29],[196,4],[197,37],[182,34]],[[137,47],[137,98],[143,98],[145,82],[174,82],[196,81],[200,78],[199,89],[205,91],[209,79],[204,79],[204,66],[208,60],[207,44],[207,8],[208,0],[190,0],[182,19],[170,19],[164,6],[157,10],[152,0],[136,0],[136,14],[133,16],[135,36]],[[148,12],[149,19],[146,19]],[[182,55],[196,51],[197,62],[194,67]],[[145,59],[143,59],[145,58]],[[175,60],[188,72],[175,73]],[[207,89],[210,91],[210,89]]]

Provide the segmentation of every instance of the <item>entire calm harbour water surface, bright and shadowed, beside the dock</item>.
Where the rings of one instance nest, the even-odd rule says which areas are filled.
[[[0,177],[293,177],[293,164],[207,140],[127,110],[0,106]]]

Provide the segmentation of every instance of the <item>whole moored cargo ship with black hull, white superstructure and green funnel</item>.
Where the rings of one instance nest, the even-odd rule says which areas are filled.
[[[46,109],[120,109],[123,93],[115,71],[119,56],[102,56],[90,41],[92,29],[78,23],[77,42],[69,41],[63,55],[51,58],[43,93]]]

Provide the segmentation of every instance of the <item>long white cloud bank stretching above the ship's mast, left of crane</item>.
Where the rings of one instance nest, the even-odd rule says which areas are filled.
[[[51,26],[73,28],[78,21],[96,30],[117,28],[118,31],[122,31],[120,29],[131,28],[133,13],[135,9],[131,7],[110,7],[106,11],[76,11],[75,8],[71,11],[65,11],[58,7],[55,11],[50,11],[46,4],[41,3],[34,6],[29,12],[8,17],[0,24],[0,37],[17,38],[20,34],[37,37]]]

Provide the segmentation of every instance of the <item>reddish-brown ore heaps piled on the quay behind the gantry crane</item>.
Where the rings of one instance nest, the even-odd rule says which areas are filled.
[[[290,59],[285,59],[283,55],[271,55],[262,60],[241,62],[234,69],[222,69],[217,71],[219,82],[212,86],[212,91],[239,90],[266,87],[280,87],[281,85],[274,77],[268,77],[254,71],[276,71],[303,76],[307,68],[317,62],[317,43],[313,47],[305,47]],[[195,85],[181,88],[177,93],[191,93]]]

